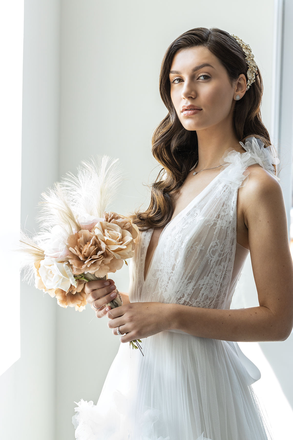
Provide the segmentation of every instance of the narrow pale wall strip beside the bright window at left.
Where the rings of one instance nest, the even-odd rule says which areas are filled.
[[[25,0],[21,222],[31,232],[41,191],[58,180],[59,9],[58,0]],[[3,440],[55,438],[56,305],[21,283],[21,357],[0,376]]]

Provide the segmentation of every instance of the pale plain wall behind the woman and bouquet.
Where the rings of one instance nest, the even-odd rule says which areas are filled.
[[[250,44],[264,82],[262,119],[271,133],[274,10],[273,0],[25,0],[22,225],[37,230],[40,193],[92,154],[119,158],[127,175],[112,205],[116,212],[147,207],[144,183],[160,169],[151,154],[152,132],[166,115],[159,67],[168,45],[188,29],[219,27]],[[291,147],[287,138],[285,144]],[[287,212],[288,163],[282,181]],[[127,266],[112,275],[118,289],[127,291]],[[248,257],[235,308],[258,305],[252,277]],[[120,344],[107,322],[90,307],[81,313],[61,308],[21,283],[21,357],[0,376],[3,439],[74,439],[74,401],[97,402]],[[273,427],[279,426],[275,440],[291,435],[292,335],[239,345],[261,370],[255,386]]]

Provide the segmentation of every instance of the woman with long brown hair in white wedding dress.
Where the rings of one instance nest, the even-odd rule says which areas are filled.
[[[97,405],[75,408],[76,438],[272,439],[251,386],[260,372],[236,342],[284,341],[293,327],[293,264],[279,159],[260,118],[261,75],[238,37],[195,28],[170,44],[159,87],[168,114],[152,154],[163,174],[148,209],[132,215],[140,232],[129,297],[107,311],[113,280],[87,283],[87,301],[122,344]],[[249,252],[260,305],[230,309]],[[144,356],[129,352],[135,339]]]

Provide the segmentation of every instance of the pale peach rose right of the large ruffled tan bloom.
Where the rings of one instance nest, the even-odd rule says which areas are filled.
[[[106,249],[115,257],[109,262],[109,272],[116,272],[116,270],[121,269],[123,260],[134,256],[135,243],[132,235],[126,229],[121,229],[114,221],[111,223],[100,221],[95,225],[92,232],[100,242],[105,243]]]

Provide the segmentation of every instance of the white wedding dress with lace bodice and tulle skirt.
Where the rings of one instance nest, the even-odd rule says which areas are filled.
[[[273,175],[271,164],[279,163],[259,139],[240,144],[246,152],[226,150],[220,173],[164,227],[145,280],[153,229],[138,234],[130,302],[230,308],[249,252],[236,242],[238,188],[247,166],[258,163]],[[77,403],[76,439],[272,439],[251,386],[260,371],[236,342],[169,330],[142,339],[141,348],[144,356],[121,343],[97,405]]]

